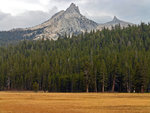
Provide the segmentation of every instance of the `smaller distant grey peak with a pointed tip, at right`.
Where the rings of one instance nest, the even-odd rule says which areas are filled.
[[[115,27],[116,25],[120,25],[120,27],[123,28],[123,27],[128,27],[129,25],[132,26],[134,24],[122,21],[122,20],[118,19],[116,16],[114,16],[112,21],[104,23],[104,24],[99,24],[97,29],[102,30],[104,27],[108,28],[108,29],[112,29],[112,27]]]

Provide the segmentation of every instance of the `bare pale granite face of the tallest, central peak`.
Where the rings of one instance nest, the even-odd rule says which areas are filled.
[[[75,4],[71,4],[66,11],[60,11],[50,20],[41,25],[30,28],[30,30],[43,29],[41,34],[35,37],[35,40],[46,38],[57,40],[59,36],[72,36],[85,31],[95,30],[98,24],[81,15],[79,8]]]

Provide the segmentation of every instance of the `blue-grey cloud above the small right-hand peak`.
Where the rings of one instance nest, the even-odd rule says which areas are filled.
[[[140,23],[150,21],[150,0],[92,0],[82,5],[91,17],[113,17]],[[100,19],[99,19],[100,21]]]

